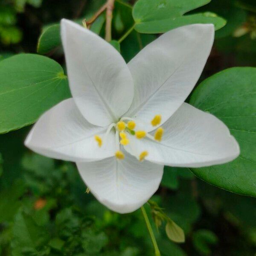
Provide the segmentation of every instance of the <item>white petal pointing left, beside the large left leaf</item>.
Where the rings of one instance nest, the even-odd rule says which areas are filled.
[[[44,113],[26,138],[25,145],[37,152],[68,161],[91,161],[111,157],[115,152],[112,131],[101,148],[94,136],[103,138],[107,128],[92,125],[81,115],[73,99],[60,102]]]

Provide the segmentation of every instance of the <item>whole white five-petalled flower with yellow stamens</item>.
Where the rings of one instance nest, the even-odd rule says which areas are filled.
[[[128,64],[70,20],[61,21],[61,38],[73,98],[44,113],[25,144],[76,162],[108,208],[125,213],[141,207],[158,189],[164,165],[211,166],[239,155],[223,122],[184,103],[212,48],[212,24],[173,29]]]

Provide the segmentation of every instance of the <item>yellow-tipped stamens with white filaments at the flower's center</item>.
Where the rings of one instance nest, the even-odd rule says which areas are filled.
[[[156,115],[151,120],[152,126],[160,125],[161,123],[161,115]],[[125,122],[126,121],[126,122]],[[128,145],[130,144],[131,149],[134,151],[135,155],[137,156],[137,159],[139,161],[143,161],[145,157],[148,156],[148,151],[142,151],[137,152],[135,148],[132,148],[132,145],[130,143],[130,140],[128,139],[128,134],[134,136],[136,139],[141,140],[143,138],[148,138],[150,140],[154,140],[157,142],[160,142],[162,140],[163,136],[163,128],[159,127],[155,131],[154,137],[151,134],[148,134],[144,130],[136,130],[136,122],[134,119],[130,117],[122,117],[119,122],[116,124],[113,123],[109,125],[103,139],[99,135],[95,135],[94,139],[96,140],[96,143],[98,143],[98,146],[101,147],[103,143],[105,143],[108,134],[110,133],[111,129],[114,128],[116,131],[116,153],[115,156],[117,159],[122,160],[125,158],[125,154],[120,150],[120,144],[121,145]]]

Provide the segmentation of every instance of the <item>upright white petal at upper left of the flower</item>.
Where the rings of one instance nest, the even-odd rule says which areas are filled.
[[[119,52],[88,29],[61,20],[71,93],[83,116],[92,124],[106,126],[131,105],[134,85]]]

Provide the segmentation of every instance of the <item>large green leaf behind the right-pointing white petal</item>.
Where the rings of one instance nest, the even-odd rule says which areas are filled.
[[[190,103],[212,113],[230,129],[240,145],[231,163],[195,168],[202,180],[241,195],[256,196],[256,68],[235,67],[204,80]]]

